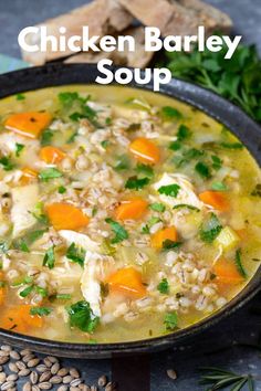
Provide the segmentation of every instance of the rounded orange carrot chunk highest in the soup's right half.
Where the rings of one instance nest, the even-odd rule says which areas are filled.
[[[145,165],[156,165],[160,159],[159,148],[145,137],[133,140],[129,145],[129,151]]]

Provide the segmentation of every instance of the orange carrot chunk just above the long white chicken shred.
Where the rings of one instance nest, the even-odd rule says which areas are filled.
[[[79,230],[88,224],[83,211],[70,203],[54,202],[46,205],[48,216],[55,230]]]

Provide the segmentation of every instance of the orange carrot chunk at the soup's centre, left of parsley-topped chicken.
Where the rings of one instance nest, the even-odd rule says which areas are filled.
[[[147,201],[142,197],[129,197],[117,207],[115,216],[117,220],[138,220],[146,213],[147,207]]]

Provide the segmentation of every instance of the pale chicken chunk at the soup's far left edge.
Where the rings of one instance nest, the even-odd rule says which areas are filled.
[[[39,199],[38,184],[29,184],[11,190],[12,209],[11,221],[13,223],[12,236],[20,236],[25,230],[31,229],[36,220],[32,214]]]

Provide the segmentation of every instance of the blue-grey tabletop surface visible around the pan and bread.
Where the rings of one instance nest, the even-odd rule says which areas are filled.
[[[0,53],[20,57],[17,35],[22,28],[86,2],[86,0],[0,0]],[[228,12],[234,21],[234,33],[242,34],[244,42],[255,43],[261,53],[261,0],[208,0],[207,2]],[[152,391],[205,390],[198,384],[198,369],[202,366],[217,366],[239,373],[252,373],[255,379],[255,390],[261,391],[260,350],[234,344],[260,342],[261,311],[260,315],[254,315],[253,307],[261,308],[261,295],[227,320],[196,337],[194,341],[152,355]],[[64,364],[80,368],[87,383],[95,382],[103,373],[109,376],[112,367],[111,360],[64,360]],[[177,380],[167,377],[166,370],[169,368],[177,371]],[[136,371],[138,370],[137,366]],[[128,377],[128,371],[125,376]],[[130,384],[129,388],[119,383],[119,390],[147,391],[140,389],[136,380]],[[22,387],[19,388],[21,389]]]

